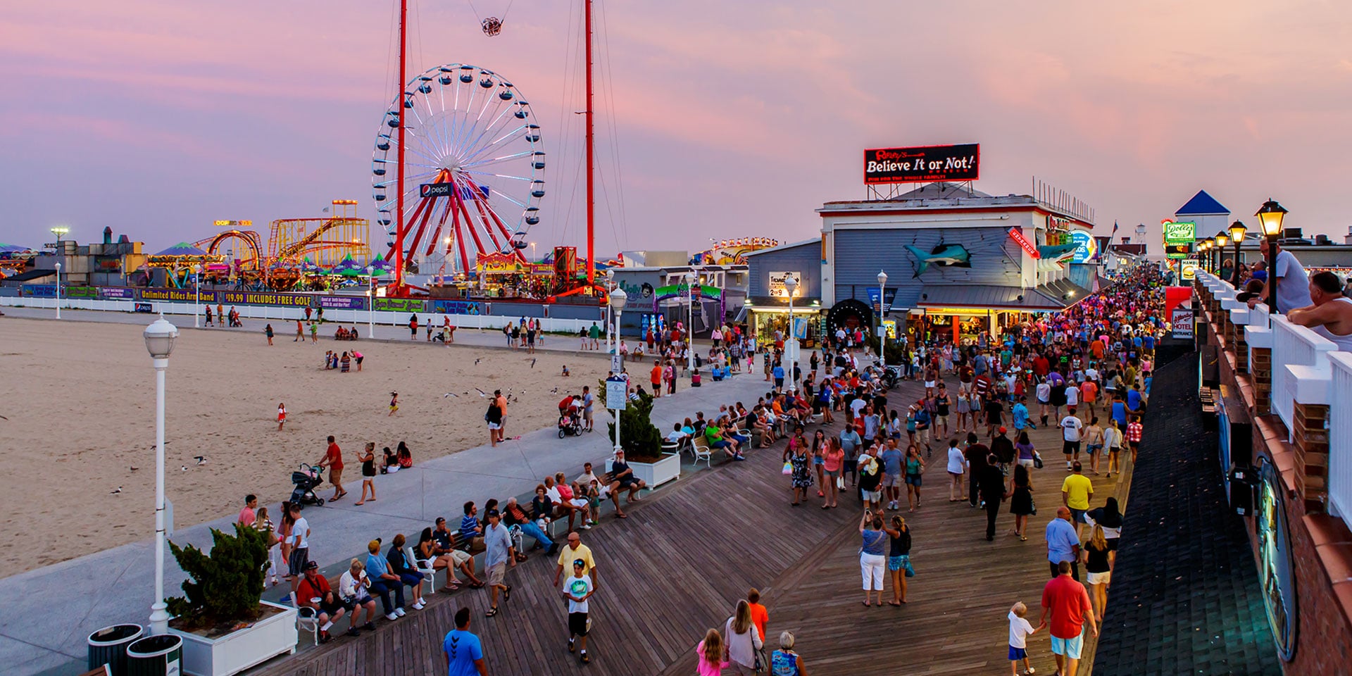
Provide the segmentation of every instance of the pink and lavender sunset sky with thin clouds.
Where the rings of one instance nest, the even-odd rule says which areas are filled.
[[[502,15],[485,37],[479,16]],[[215,219],[375,218],[395,0],[9,0],[0,241],[104,226],[158,250]],[[541,253],[581,245],[580,0],[415,0],[410,73],[464,62],[530,97],[550,166]],[[982,143],[991,193],[1036,174],[1153,224],[1205,188],[1341,241],[1352,3],[598,0],[598,250],[814,237],[863,199],[865,147]],[[618,165],[617,165],[618,160]],[[623,220],[622,220],[623,214]]]

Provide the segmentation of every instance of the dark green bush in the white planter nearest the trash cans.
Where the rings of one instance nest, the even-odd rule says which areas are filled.
[[[183,583],[187,598],[166,600],[170,614],[192,627],[258,617],[268,533],[235,523],[234,535],[211,529],[211,556],[193,545],[180,548],[169,542],[169,549],[189,577]]]

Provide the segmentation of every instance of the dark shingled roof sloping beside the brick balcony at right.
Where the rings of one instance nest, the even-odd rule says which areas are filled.
[[[1197,353],[1151,389],[1094,676],[1282,673],[1217,433],[1202,429]]]

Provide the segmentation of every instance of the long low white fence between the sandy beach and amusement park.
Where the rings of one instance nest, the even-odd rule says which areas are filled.
[[[101,310],[108,312],[134,312],[137,308],[134,300],[105,300],[105,299],[61,299],[62,310]],[[151,300],[149,301],[154,312],[164,312],[165,315],[187,315],[192,316],[195,312],[200,311],[201,306],[195,303],[170,303],[166,300]],[[32,296],[0,296],[0,306],[5,307],[42,307],[55,310],[57,299],[53,297],[32,297]],[[289,320],[295,322],[297,319],[306,318],[306,308],[301,307],[272,307],[272,306],[233,306],[239,316],[243,319],[264,319],[264,320]],[[335,310],[324,308],[324,320],[343,324],[365,324],[368,322],[376,323],[379,326],[408,326],[408,316],[412,312],[388,312],[388,311],[368,311],[368,310]],[[419,312],[419,320],[427,322],[431,318],[439,319],[441,312]],[[503,326],[516,322],[516,316],[499,316],[499,315],[449,315],[450,323],[457,329],[502,329]],[[147,320],[149,323],[149,320]],[[592,323],[604,326],[603,322],[594,322],[591,319],[558,319],[558,318],[541,318],[539,326],[545,331],[564,331],[576,334],[584,327],[589,327]],[[439,326],[439,322],[433,320],[434,326]]]

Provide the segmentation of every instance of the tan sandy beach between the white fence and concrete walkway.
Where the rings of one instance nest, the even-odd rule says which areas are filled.
[[[168,370],[165,431],[166,492],[177,527],[234,514],[250,492],[274,511],[291,493],[291,470],[323,457],[330,434],[347,464],[345,500],[356,502],[356,457],[368,441],[377,454],[404,441],[414,462],[483,445],[487,402],[476,388],[519,397],[507,410],[508,437],[552,426],[562,393],[594,385],[607,368],[595,356],[442,347],[422,337],[296,343],[295,324],[274,329],[270,347],[254,331],[180,333]],[[320,333],[331,335],[333,329]],[[4,479],[9,533],[20,542],[59,542],[37,556],[22,548],[0,553],[5,575],[154,534],[155,392],[142,330],[18,318],[0,323],[0,373],[8,384],[0,438],[16,461]],[[353,347],[365,354],[361,372],[356,364],[350,373],[322,368],[326,350]],[[572,377],[561,376],[565,364]],[[399,391],[395,416],[387,416],[391,391]],[[288,411],[283,431],[279,402]],[[206,464],[197,465],[196,456]],[[331,493],[327,483],[320,488]]]

